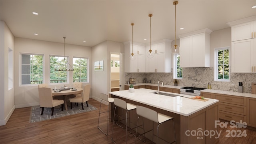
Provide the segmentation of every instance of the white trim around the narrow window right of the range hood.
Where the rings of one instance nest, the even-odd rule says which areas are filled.
[[[218,79],[218,50],[229,50],[228,52],[228,58],[229,58],[229,64],[228,64],[228,80],[220,80]],[[214,81],[218,82],[230,82],[230,46],[222,47],[222,48],[214,48]]]

